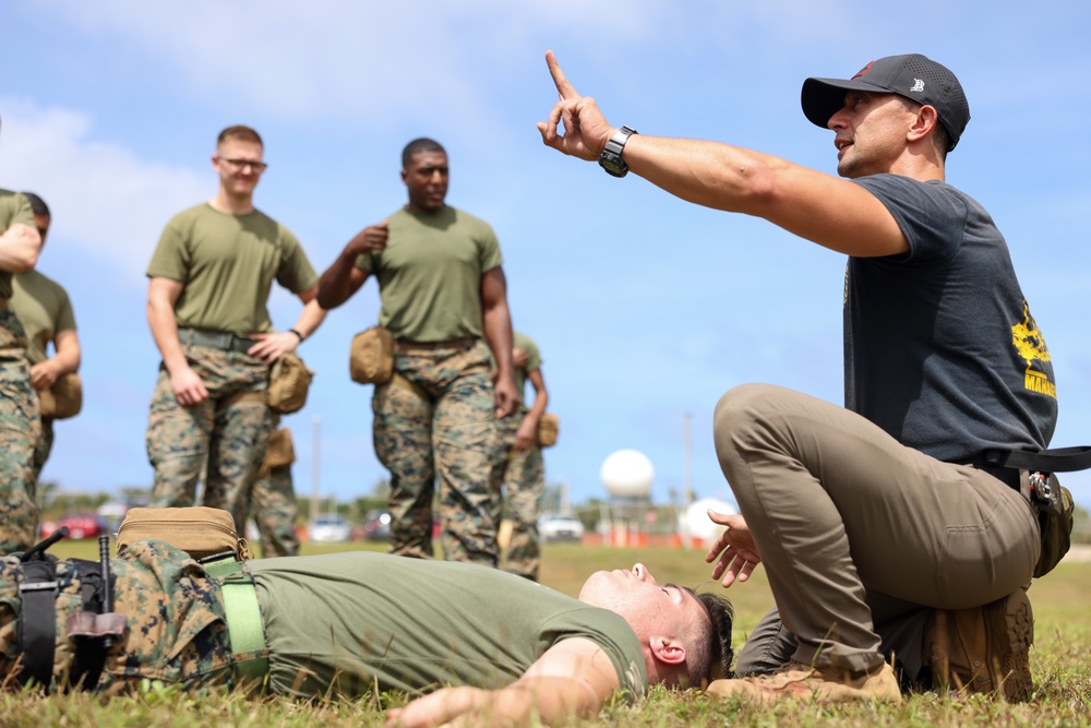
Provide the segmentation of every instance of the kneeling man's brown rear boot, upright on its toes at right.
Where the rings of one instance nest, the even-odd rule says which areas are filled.
[[[1034,613],[1024,589],[972,609],[937,609],[924,629],[924,664],[936,688],[1030,697]]]

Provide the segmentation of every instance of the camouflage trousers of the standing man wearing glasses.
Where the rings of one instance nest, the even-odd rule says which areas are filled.
[[[237,351],[185,346],[185,358],[208,390],[193,407],[178,404],[160,366],[147,426],[155,468],[152,508],[194,505],[205,472],[202,505],[224,509],[245,533],[250,486],[265,457],[273,413],[265,404],[268,367]]]

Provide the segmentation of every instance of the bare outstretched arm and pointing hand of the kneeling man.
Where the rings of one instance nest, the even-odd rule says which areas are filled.
[[[553,51],[547,51],[546,61],[561,100],[548,120],[538,123],[542,142],[571,156],[598,159],[618,129],[607,122],[594,98],[576,92]],[[634,174],[682,200],[764,217],[838,252],[875,256],[909,249],[894,216],[867,190],[779,157],[718,142],[645,134],[628,138],[623,157]]]

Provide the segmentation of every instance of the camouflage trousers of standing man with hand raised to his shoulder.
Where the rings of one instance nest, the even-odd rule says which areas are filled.
[[[399,343],[394,381],[372,397],[375,454],[391,472],[391,552],[432,557],[432,497],[449,561],[495,566],[495,397],[488,345]]]

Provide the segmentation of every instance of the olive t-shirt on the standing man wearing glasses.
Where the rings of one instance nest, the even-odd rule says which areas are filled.
[[[184,284],[179,326],[252,334],[273,329],[273,281],[293,294],[319,282],[291,231],[255,210],[231,215],[208,203],[176,215],[163,231],[147,276]]]

